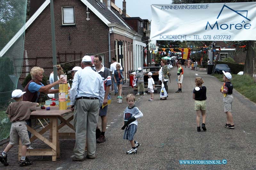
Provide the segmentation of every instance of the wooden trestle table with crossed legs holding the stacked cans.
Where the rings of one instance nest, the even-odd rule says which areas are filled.
[[[41,109],[40,107],[36,108],[36,111],[33,111],[30,115],[30,119],[50,119],[50,123],[41,129],[39,132],[32,129],[27,125],[28,131],[30,131],[34,136],[30,138],[31,144],[37,138],[42,140],[45,144],[50,146],[50,149],[27,149],[27,156],[52,156],[52,161],[56,161],[56,158],[60,158],[60,144],[59,138],[63,139],[75,139],[75,132],[70,133],[59,133],[59,129],[65,125],[68,125],[71,129],[74,129],[74,126],[69,123],[74,119],[74,115],[70,116],[68,119],[63,118],[65,114],[71,113],[70,109],[59,110],[59,106],[51,106],[51,110]],[[58,125],[58,119],[62,122]],[[49,139],[43,137],[43,134],[50,129]],[[21,158],[21,143],[19,144],[19,160]]]

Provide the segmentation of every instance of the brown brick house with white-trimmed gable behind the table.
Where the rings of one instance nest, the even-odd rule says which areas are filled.
[[[53,70],[50,0],[30,2],[20,82],[34,66],[44,68],[46,76]],[[123,65],[126,78],[129,70],[142,66],[141,50],[146,46],[140,44],[143,35],[138,35],[110,5],[110,0],[54,0],[58,64],[76,60],[72,63],[79,66],[84,55],[100,54],[109,68],[111,57],[115,56]],[[3,48],[0,56],[12,48],[15,37],[20,35],[22,31]]]

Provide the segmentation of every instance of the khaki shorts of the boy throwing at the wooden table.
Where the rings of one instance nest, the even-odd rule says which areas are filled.
[[[26,121],[12,122],[10,131],[11,145],[19,145],[19,140],[21,141],[22,146],[30,144],[28,129],[26,125]]]

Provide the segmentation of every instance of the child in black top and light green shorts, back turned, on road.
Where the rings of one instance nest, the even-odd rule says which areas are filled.
[[[206,118],[206,87],[202,86],[204,80],[200,77],[196,77],[195,84],[196,87],[193,90],[193,99],[195,100],[195,110],[196,110],[196,124],[197,131],[200,132],[200,113],[202,115],[202,129],[206,131],[205,128],[205,118]]]

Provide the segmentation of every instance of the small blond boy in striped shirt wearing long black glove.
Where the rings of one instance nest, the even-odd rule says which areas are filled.
[[[140,146],[140,144],[135,141],[133,137],[137,131],[137,119],[142,117],[143,114],[138,107],[134,106],[135,96],[133,94],[128,94],[126,96],[126,101],[129,106],[124,110],[124,126],[121,129],[125,129],[123,139],[129,140],[132,146],[132,149],[127,151],[126,154],[132,155],[137,154],[137,148]]]

